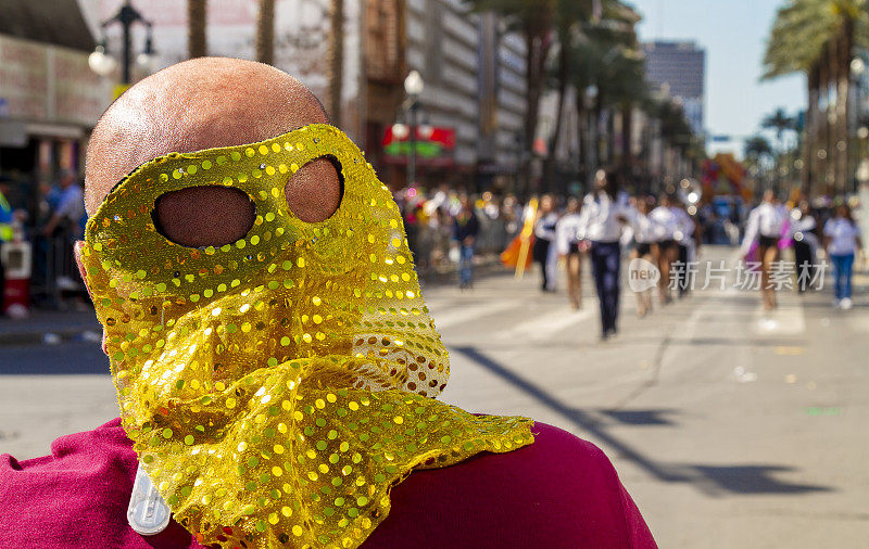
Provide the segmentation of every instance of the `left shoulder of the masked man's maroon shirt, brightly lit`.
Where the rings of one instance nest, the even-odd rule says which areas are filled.
[[[137,467],[119,420],[58,438],[49,456],[0,456],[0,547],[189,547],[174,522],[149,544],[127,524]]]

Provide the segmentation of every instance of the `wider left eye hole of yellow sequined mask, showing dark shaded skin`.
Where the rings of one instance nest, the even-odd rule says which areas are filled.
[[[239,189],[188,187],[158,197],[151,217],[158,232],[176,244],[223,246],[248,234],[256,219],[256,206]]]

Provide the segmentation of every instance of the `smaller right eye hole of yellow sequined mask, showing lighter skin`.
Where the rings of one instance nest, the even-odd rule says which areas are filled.
[[[284,194],[290,212],[302,221],[325,221],[335,214],[344,195],[341,163],[332,155],[308,162],[287,180]]]

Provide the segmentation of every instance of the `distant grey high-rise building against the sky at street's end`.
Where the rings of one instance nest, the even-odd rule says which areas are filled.
[[[648,82],[681,103],[691,129],[704,135],[706,51],[694,42],[655,41],[643,46]]]

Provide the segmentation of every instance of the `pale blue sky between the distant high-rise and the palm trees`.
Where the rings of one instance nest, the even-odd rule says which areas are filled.
[[[690,39],[706,50],[706,128],[744,137],[776,107],[805,108],[802,76],[760,82],[767,34],[784,0],[628,0],[643,15],[640,39]],[[716,145],[741,152],[741,143]]]

